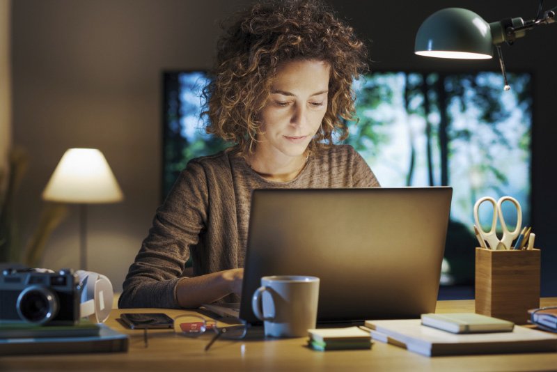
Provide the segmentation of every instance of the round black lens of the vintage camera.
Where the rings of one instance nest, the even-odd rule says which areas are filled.
[[[31,286],[19,293],[15,307],[26,322],[43,324],[58,313],[58,297],[48,288]]]

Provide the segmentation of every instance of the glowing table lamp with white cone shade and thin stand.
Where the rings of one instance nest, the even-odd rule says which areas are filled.
[[[123,200],[122,190],[104,155],[95,148],[67,150],[42,192],[42,199],[79,204],[79,268],[87,270],[87,204]]]

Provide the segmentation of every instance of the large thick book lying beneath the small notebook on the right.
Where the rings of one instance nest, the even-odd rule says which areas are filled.
[[[512,332],[453,334],[427,327],[420,319],[366,320],[372,339],[407,348],[428,357],[437,355],[555,352],[557,335],[515,325]]]

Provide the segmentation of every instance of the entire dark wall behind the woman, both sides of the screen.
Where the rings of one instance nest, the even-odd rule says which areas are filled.
[[[90,269],[116,290],[146,236],[160,195],[161,71],[208,68],[217,20],[248,1],[17,0],[13,1],[13,142],[30,156],[19,192],[24,239],[36,226],[40,193],[63,152],[100,148],[125,193],[123,203],[91,206]],[[535,1],[334,0],[341,15],[370,41],[377,70],[497,70],[496,61],[464,63],[414,56],[414,35],[425,17],[447,6],[469,8],[488,22],[535,16]],[[551,4],[549,4],[551,5]],[[553,4],[557,5],[557,4]],[[557,25],[540,26],[504,47],[509,71],[535,74],[533,227],[542,252],[544,294],[557,294],[556,200],[552,149],[557,77]],[[77,211],[47,245],[45,267],[72,267],[79,247]],[[471,247],[470,249],[473,249]]]

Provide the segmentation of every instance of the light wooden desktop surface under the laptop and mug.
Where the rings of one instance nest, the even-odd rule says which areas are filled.
[[[542,306],[557,305],[557,297],[542,299]],[[437,312],[473,311],[473,300],[439,301]],[[403,348],[375,342],[371,350],[318,352],[306,347],[306,338],[267,339],[261,330],[242,341],[220,339],[205,352],[210,339],[175,336],[166,330],[150,330],[149,345],[143,332],[127,330],[113,310],[107,325],[130,334],[128,352],[1,357],[0,371],[533,371],[557,368],[557,352],[512,355],[423,357]],[[157,309],[147,309],[155,312]],[[162,310],[171,316],[188,311]]]

